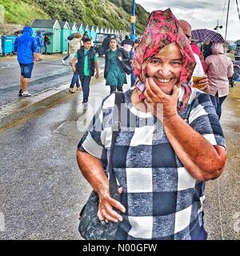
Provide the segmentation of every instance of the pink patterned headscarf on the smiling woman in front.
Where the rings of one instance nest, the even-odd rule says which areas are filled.
[[[187,83],[190,81],[196,63],[190,41],[186,38],[177,18],[174,17],[170,9],[155,10],[150,14],[146,30],[142,34],[142,39],[134,54],[132,67],[134,75],[143,82],[146,78],[146,65],[143,64],[150,62],[150,59],[158,54],[159,50],[172,42],[179,46],[182,53],[183,65],[179,82],[185,89],[183,104],[180,108],[183,109],[190,97],[191,89]],[[141,98],[144,99],[143,94]]]

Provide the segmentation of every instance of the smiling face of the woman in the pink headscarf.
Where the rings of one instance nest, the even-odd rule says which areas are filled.
[[[156,85],[165,93],[171,94],[179,82],[182,71],[182,54],[177,45],[170,43],[146,65],[146,74],[154,78]]]

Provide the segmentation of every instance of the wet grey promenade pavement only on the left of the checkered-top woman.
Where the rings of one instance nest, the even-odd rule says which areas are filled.
[[[90,101],[97,94],[108,88],[92,85]],[[78,214],[90,186],[76,162],[77,124],[88,114],[80,91],[0,134],[1,239],[80,239]]]

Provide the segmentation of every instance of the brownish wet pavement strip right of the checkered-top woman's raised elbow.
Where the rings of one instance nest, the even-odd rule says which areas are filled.
[[[222,106],[227,162],[220,178],[206,182],[206,230],[209,239],[240,239],[240,83]]]

